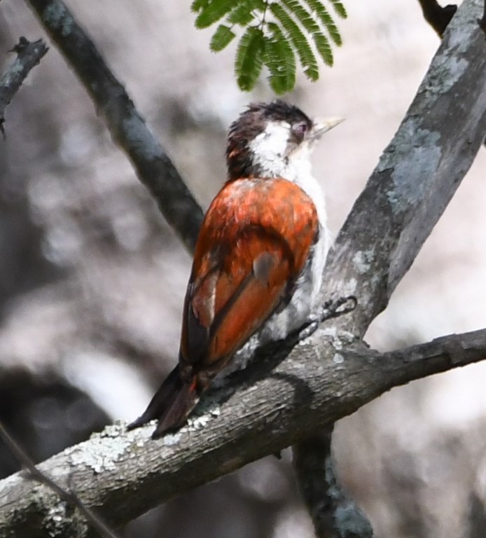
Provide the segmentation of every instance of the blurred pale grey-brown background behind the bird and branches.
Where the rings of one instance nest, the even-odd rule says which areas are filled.
[[[265,81],[236,87],[234,46],[209,52],[189,2],[67,4],[203,207],[225,179],[225,130]],[[345,4],[344,45],[291,102],[345,116],[314,155],[333,233],[412,101],[439,41],[415,0]],[[27,4],[0,4],[0,66],[43,31]],[[0,67],[0,71],[4,67]],[[0,420],[35,460],[133,420],[176,361],[190,256],[51,46],[6,109],[0,139]],[[387,311],[380,350],[486,325],[486,150],[480,150]],[[338,423],[340,476],[378,538],[473,536],[486,528],[486,365],[394,389]],[[266,458],[174,499],[126,538],[310,538],[291,455]],[[17,469],[0,445],[0,474]],[[224,510],[221,510],[224,503]],[[190,511],[190,518],[187,514]],[[483,533],[484,534],[484,533]],[[483,536],[478,534],[478,536]],[[475,535],[475,534],[474,534]]]

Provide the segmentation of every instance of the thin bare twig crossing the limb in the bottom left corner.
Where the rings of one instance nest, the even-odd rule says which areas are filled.
[[[66,504],[68,504],[72,508],[77,508],[81,513],[83,513],[83,516],[85,516],[86,520],[88,520],[91,523],[92,527],[97,530],[100,536],[104,538],[118,538],[116,534],[114,534],[108,527],[106,527],[106,525],[99,518],[99,516],[97,516],[91,509],[89,509],[87,506],[85,506],[85,504],[83,504],[83,502],[81,502],[81,500],[75,493],[67,492],[66,490],[61,488],[60,485],[57,485],[57,483],[55,483],[52,478],[49,478],[42,471],[39,471],[39,469],[37,469],[37,467],[35,466],[34,462],[32,462],[32,460],[24,452],[18,442],[13,439],[11,434],[7,432],[6,427],[4,427],[1,422],[0,438],[4,441],[11,453],[17,458],[22,467],[26,469],[31,478],[34,478],[34,480],[41,484],[47,485],[47,487],[53,490],[53,492],[55,492]]]

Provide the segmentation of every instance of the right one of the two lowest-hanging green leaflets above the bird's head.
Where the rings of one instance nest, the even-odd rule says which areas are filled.
[[[270,71],[270,87],[277,95],[282,95],[296,85],[296,56],[278,25],[269,22],[268,29],[272,36],[265,39],[263,61]]]

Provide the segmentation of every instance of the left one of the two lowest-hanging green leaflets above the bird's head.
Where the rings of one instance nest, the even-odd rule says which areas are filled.
[[[235,59],[237,83],[241,90],[254,88],[263,67],[265,37],[259,28],[249,27],[239,40]]]

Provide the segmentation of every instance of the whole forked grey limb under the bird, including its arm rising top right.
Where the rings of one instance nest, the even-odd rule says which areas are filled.
[[[479,10],[478,0],[466,0],[459,9],[331,252],[323,297],[354,295],[358,308],[303,343],[266,350],[265,360],[204,398],[200,416],[178,434],[151,441],[151,427],[127,433],[116,425],[50,458],[39,466],[42,471],[118,526],[309,438],[391,387],[486,357],[486,331],[385,354],[360,340],[386,307],[486,133],[486,43]],[[45,485],[21,474],[0,483],[0,537],[85,532],[83,518]]]

